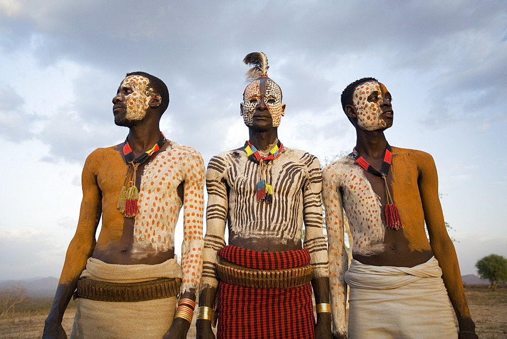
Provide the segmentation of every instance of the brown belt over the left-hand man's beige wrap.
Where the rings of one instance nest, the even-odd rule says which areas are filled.
[[[181,279],[161,278],[140,283],[106,283],[87,278],[78,280],[78,297],[100,301],[144,301],[163,299],[179,293]]]

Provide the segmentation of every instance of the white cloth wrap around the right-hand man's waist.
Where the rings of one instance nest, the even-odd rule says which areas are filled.
[[[435,257],[414,267],[352,259],[349,338],[457,338],[458,327]]]

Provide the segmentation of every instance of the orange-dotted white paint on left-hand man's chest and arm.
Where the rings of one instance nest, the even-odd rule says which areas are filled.
[[[174,228],[183,209],[182,291],[195,288],[200,279],[204,215],[204,163],[199,152],[171,142],[147,164],[139,190],[139,214],[134,242],[151,245],[156,251],[174,248]],[[177,188],[183,183],[183,201]]]

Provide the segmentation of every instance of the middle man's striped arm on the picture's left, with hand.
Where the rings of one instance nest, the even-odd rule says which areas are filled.
[[[227,185],[224,178],[225,159],[214,156],[208,164],[206,189],[208,206],[206,209],[206,236],[204,237],[203,267],[199,294],[199,307],[213,309],[218,280],[215,275],[216,252],[225,246],[224,234],[227,220]],[[197,337],[214,338],[210,320],[197,320]]]

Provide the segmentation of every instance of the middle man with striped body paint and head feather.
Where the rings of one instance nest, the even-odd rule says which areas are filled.
[[[266,56],[250,53],[243,61],[256,65],[240,108],[249,139],[208,164],[197,337],[214,337],[218,293],[219,338],[330,338],[320,164],[313,155],[278,140],[285,104],[280,87],[267,76]]]

